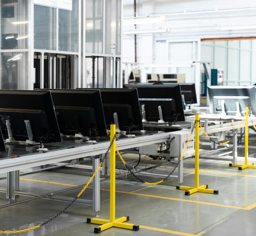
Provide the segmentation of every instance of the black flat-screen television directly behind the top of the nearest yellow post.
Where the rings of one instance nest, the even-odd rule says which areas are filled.
[[[115,124],[117,114],[121,131],[143,130],[136,89],[100,89],[106,126]]]

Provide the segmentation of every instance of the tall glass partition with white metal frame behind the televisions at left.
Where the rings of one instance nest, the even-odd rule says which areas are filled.
[[[0,0],[0,89],[121,86],[121,0],[33,2]]]

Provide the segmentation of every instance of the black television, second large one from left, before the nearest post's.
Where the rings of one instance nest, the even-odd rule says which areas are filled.
[[[99,90],[47,90],[50,90],[52,94],[59,129],[63,135],[78,138],[107,135]]]

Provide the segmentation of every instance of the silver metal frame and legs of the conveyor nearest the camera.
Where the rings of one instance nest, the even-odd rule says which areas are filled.
[[[133,147],[145,146],[150,144],[157,144],[167,142],[170,139],[170,133],[157,133],[144,136],[135,136],[132,138],[126,138],[116,141],[116,145],[119,150],[130,149]],[[60,149],[49,151],[46,153],[38,153],[33,155],[24,155],[12,159],[0,159],[0,173],[7,172],[7,184],[6,188],[0,188],[0,192],[6,192],[8,204],[0,206],[1,208],[24,203],[34,199],[44,198],[60,201],[70,201],[70,197],[59,196],[58,194],[67,192],[70,190],[82,188],[83,186],[77,186],[73,188],[67,188],[58,192],[51,192],[48,194],[32,194],[19,190],[19,170],[32,168],[36,166],[44,166],[53,164],[56,162],[65,162],[67,160],[79,159],[84,157],[91,157],[93,160],[93,170],[98,167],[99,157],[102,153],[105,153],[109,147],[109,142],[98,142],[91,145],[84,145],[69,149]],[[17,201],[18,195],[24,195],[30,197],[29,199]],[[93,180],[93,199],[79,199],[78,203],[93,205],[94,211],[100,210],[100,173],[96,173]]]

